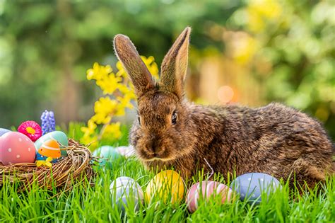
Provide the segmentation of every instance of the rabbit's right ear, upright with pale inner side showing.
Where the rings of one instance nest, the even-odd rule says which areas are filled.
[[[187,72],[189,55],[189,34],[187,27],[165,55],[160,69],[160,86],[166,91],[175,93],[179,98],[184,96],[184,80]]]

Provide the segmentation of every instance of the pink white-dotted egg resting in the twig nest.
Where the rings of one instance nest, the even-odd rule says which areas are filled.
[[[0,137],[0,162],[4,165],[35,162],[33,141],[20,132],[7,132]]]

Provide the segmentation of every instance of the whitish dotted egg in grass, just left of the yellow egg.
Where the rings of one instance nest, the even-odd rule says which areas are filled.
[[[127,176],[122,176],[110,184],[112,203],[117,205],[119,210],[125,212],[125,207],[139,210],[139,202],[143,202],[143,190],[139,183]]]

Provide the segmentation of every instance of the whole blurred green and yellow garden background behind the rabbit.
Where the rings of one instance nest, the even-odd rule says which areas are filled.
[[[58,123],[86,122],[102,94],[86,70],[115,66],[114,35],[160,64],[187,25],[190,100],[286,103],[323,122],[334,141],[331,0],[0,0],[0,127],[40,120],[45,109]]]

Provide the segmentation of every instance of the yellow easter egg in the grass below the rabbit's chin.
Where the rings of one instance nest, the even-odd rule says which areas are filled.
[[[180,175],[171,170],[158,173],[148,183],[145,198],[150,202],[159,198],[163,202],[179,203],[184,197],[184,183]]]

